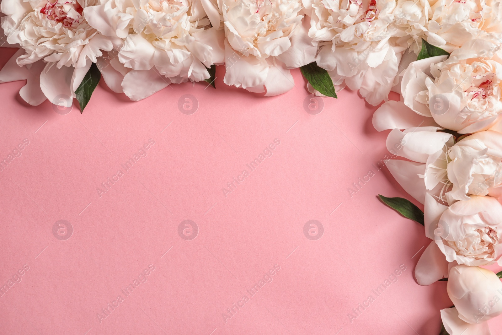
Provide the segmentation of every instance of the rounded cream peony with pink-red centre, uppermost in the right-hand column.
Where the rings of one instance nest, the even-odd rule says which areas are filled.
[[[388,129],[389,118],[395,118],[390,115],[410,118],[411,108],[422,116],[418,119],[432,118],[440,127],[460,134],[490,128],[502,118],[502,64],[489,51],[498,47],[491,41],[471,40],[449,59],[436,56],[412,62],[403,72],[403,102],[382,106],[373,125],[379,131]]]

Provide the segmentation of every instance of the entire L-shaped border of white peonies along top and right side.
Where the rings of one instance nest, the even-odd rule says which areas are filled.
[[[0,12],[0,46],[19,48],[0,83],[27,80],[32,105],[69,107],[92,76],[140,100],[213,83],[216,65],[265,96],[295,87],[295,68],[320,96],[348,87],[376,106],[400,93],[372,123],[424,204],[417,282],[448,278],[450,335],[490,333],[502,284],[480,266],[502,266],[500,0],[3,0]]]

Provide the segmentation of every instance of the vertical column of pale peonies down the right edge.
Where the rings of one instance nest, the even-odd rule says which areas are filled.
[[[420,285],[447,278],[454,307],[441,318],[450,335],[488,335],[485,321],[502,313],[502,283],[480,268],[502,266],[501,41],[493,39],[498,24],[485,19],[470,27],[491,36],[411,62],[399,76],[400,101],[382,104],[372,120],[376,130],[390,130],[390,172],[424,204],[432,241],[415,276]]]

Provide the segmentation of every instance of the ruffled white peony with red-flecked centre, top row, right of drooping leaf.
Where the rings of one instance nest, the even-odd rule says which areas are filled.
[[[309,0],[309,36],[319,42],[317,65],[330,74],[337,90],[347,86],[372,105],[387,99],[397,83],[407,45],[394,38],[392,0]]]

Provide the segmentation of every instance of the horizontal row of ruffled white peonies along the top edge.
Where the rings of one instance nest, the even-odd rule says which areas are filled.
[[[213,82],[209,69],[224,65],[227,85],[273,96],[295,87],[291,69],[315,64],[334,90],[372,105],[404,85],[413,111],[469,134],[500,113],[501,11],[499,0],[4,0],[0,45],[20,50],[0,82],[26,79],[20,94],[33,105],[71,103],[96,63],[113,91],[140,100]],[[452,56],[408,67],[422,40]],[[426,105],[443,108],[443,96],[448,114],[431,115]],[[451,114],[459,120],[447,124]]]

